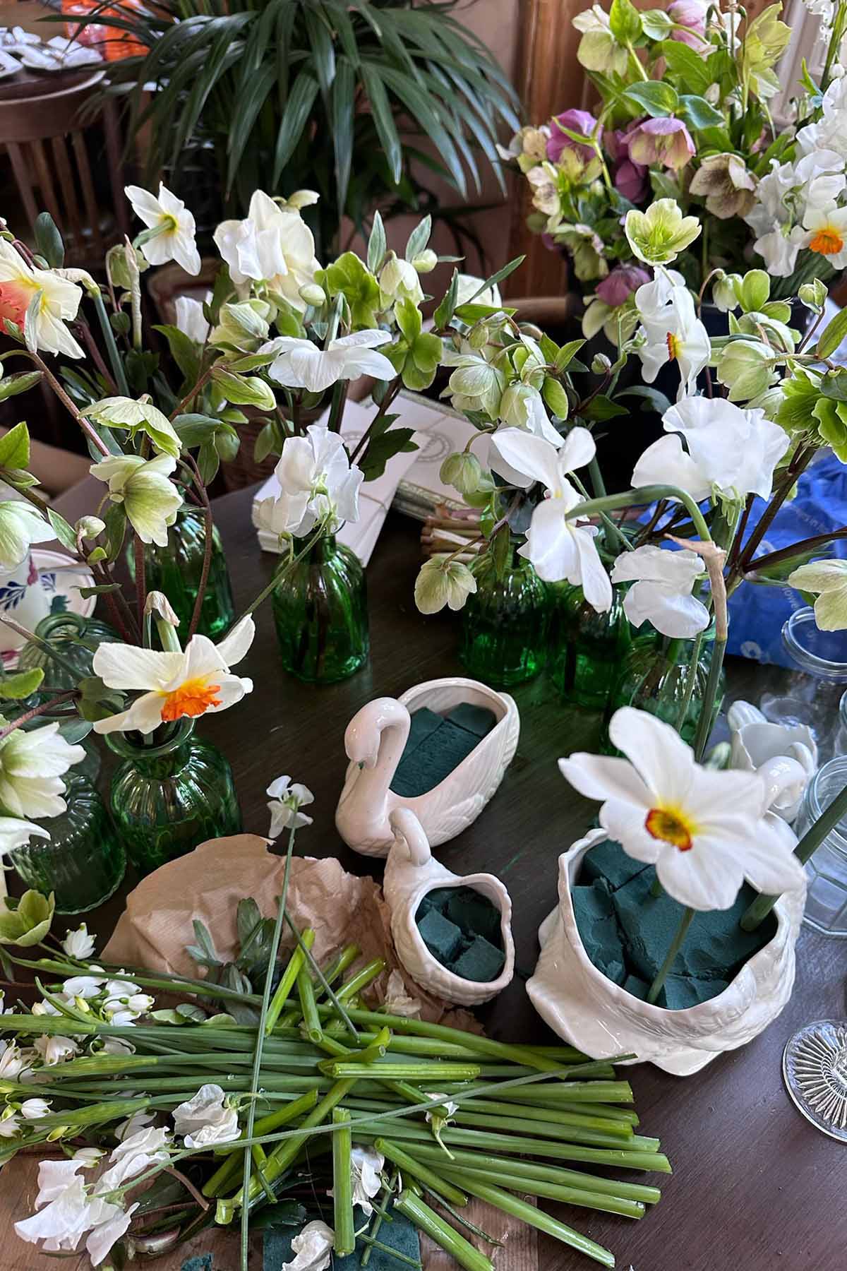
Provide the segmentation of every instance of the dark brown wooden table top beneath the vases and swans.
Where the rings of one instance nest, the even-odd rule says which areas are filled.
[[[239,605],[258,594],[273,568],[273,559],[260,555],[257,547],[250,498],[251,491],[241,491],[216,505]],[[203,736],[232,764],[246,830],[267,834],[265,787],[290,773],[315,793],[310,808],[315,824],[298,836],[298,850],[338,855],[353,873],[378,872],[380,863],[349,852],[334,827],[345,769],[344,727],[373,697],[396,697],[420,680],[462,674],[456,657],[457,616],[423,618],[414,606],[418,533],[417,525],[392,515],[373,553],[368,567],[371,660],[363,671],[325,688],[286,676],[265,605],[257,615],[255,644],[239,667],[240,674],[253,676],[253,694],[202,724]],[[731,695],[752,698],[773,675],[740,660],[730,660],[728,674]],[[535,1014],[523,981],[537,957],[538,924],[556,900],[557,857],[596,810],[570,789],[556,759],[590,749],[597,721],[559,705],[544,676],[519,686],[514,697],[521,742],[503,785],[479,820],[438,854],[460,873],[489,869],[507,883],[519,974],[505,993],[481,1008],[480,1018],[494,1037],[541,1042],[551,1035]],[[121,900],[113,900],[91,925],[108,934],[119,909]],[[846,1149],[813,1130],[789,1101],[781,1057],[786,1040],[801,1024],[847,1014],[846,981],[847,942],[804,929],[794,996],[761,1037],[717,1057],[695,1077],[673,1078],[649,1065],[627,1074],[641,1132],[662,1139],[676,1171],[673,1177],[649,1179],[663,1190],[658,1209],[639,1223],[554,1205],[551,1213],[613,1249],[624,1271],[630,1265],[634,1271],[844,1271]],[[33,1193],[32,1179],[27,1183],[20,1177],[0,1193],[3,1271],[55,1266],[17,1238],[4,1239],[9,1221],[32,1213]],[[178,1271],[183,1256],[157,1266]],[[77,1263],[71,1258],[63,1265],[72,1271]],[[235,1265],[234,1252],[221,1271],[234,1271]],[[584,1271],[593,1263],[540,1235],[528,1254],[505,1248],[498,1265],[505,1271]]]

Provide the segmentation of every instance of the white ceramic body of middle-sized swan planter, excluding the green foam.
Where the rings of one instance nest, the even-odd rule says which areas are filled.
[[[428,707],[446,714],[464,702],[491,710],[497,723],[443,780],[425,794],[406,797],[391,779],[409,737],[414,710]],[[461,834],[480,815],[514,758],[521,733],[518,708],[508,693],[495,693],[477,680],[427,680],[399,699],[376,698],[353,716],[344,733],[350,760],[335,811],[338,833],[354,852],[389,854],[394,808],[410,808],[434,848]]]

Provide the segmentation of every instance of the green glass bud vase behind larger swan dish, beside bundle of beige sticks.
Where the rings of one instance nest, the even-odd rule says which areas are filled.
[[[531,680],[547,656],[547,587],[517,554],[508,526],[470,568],[476,591],[462,610],[461,661],[485,684],[508,686]]]

